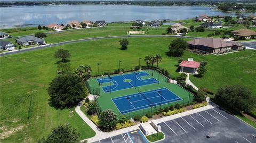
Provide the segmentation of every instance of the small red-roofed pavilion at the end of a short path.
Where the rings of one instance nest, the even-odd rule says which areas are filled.
[[[194,61],[193,58],[188,58],[188,61],[183,60],[179,66],[180,66],[180,72],[186,72],[186,73],[197,73],[197,69],[200,66],[200,62]]]

